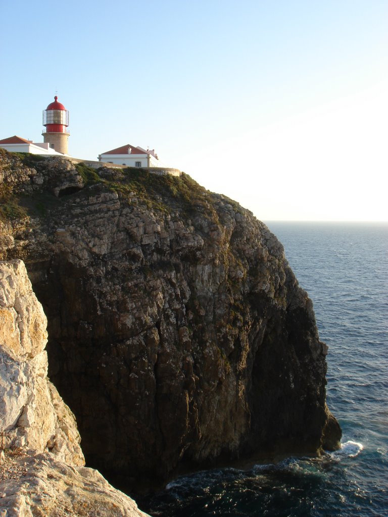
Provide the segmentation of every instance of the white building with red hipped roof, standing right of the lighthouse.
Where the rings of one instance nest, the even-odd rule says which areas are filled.
[[[143,149],[126,144],[98,155],[98,161],[129,165],[130,167],[163,167],[155,149]]]

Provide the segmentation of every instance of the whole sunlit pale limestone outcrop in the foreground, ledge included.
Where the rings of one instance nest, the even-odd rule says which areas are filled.
[[[145,516],[84,467],[74,416],[47,378],[46,326],[23,262],[0,262],[0,515]]]

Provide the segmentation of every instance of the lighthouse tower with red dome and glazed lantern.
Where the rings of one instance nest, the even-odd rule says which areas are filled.
[[[58,153],[67,155],[68,138],[70,136],[69,130],[69,112],[66,110],[61,102],[58,102],[58,97],[54,97],[54,102],[48,105],[46,110],[43,110],[43,142],[48,142],[50,147]]]

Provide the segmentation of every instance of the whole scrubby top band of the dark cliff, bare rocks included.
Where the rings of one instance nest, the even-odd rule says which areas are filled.
[[[195,214],[214,219],[220,202],[244,209],[225,196],[212,194],[185,173],[158,175],[136,167],[94,169],[66,158],[8,153],[0,149],[0,220],[43,217],[69,196],[90,195],[96,188],[117,192],[119,199],[182,217]],[[217,218],[216,218],[217,219]]]

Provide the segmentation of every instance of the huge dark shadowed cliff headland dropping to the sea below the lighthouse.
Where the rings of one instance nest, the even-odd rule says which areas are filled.
[[[26,262],[89,464],[130,487],[338,446],[312,303],[248,210],[184,174],[0,159],[0,258]]]

